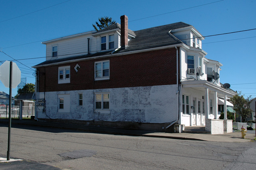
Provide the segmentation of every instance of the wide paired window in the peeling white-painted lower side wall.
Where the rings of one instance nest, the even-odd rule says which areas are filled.
[[[95,110],[108,110],[109,109],[109,93],[96,93],[95,94]]]

